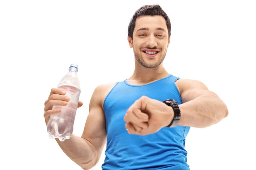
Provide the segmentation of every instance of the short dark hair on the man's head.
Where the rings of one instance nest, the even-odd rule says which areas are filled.
[[[169,37],[171,35],[171,22],[169,17],[167,16],[167,14],[165,13],[165,11],[163,11],[163,9],[159,6],[159,5],[145,5],[140,7],[133,15],[133,17],[131,18],[131,21],[129,23],[128,26],[128,36],[131,37],[131,39],[133,39],[133,31],[135,28],[135,21],[137,19],[137,17],[140,17],[142,15],[161,15],[164,17],[164,19],[166,20],[166,25],[168,28],[168,34]]]

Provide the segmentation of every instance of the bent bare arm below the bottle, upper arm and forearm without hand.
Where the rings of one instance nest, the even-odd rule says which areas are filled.
[[[105,116],[102,108],[104,89],[105,86],[101,85],[93,92],[82,136],[72,134],[70,139],[64,142],[56,139],[63,152],[84,170],[89,170],[97,164],[106,141]]]

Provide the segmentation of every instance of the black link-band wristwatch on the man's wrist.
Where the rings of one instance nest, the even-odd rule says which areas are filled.
[[[171,106],[174,111],[174,117],[172,119],[172,122],[167,127],[175,127],[177,123],[180,121],[180,108],[174,99],[164,100],[163,103],[165,103],[168,106]]]

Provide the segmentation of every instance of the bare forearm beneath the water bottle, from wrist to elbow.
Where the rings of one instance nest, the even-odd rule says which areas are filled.
[[[55,139],[63,152],[84,170],[89,170],[98,162],[98,154],[86,139],[72,134],[70,139],[60,142]]]

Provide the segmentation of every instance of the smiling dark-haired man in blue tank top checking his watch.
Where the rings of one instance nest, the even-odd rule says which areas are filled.
[[[81,137],[56,139],[84,170],[98,163],[105,142],[103,170],[189,170],[184,145],[190,127],[208,127],[227,116],[224,102],[202,82],[165,70],[170,32],[169,17],[160,6],[143,6],[135,12],[128,26],[134,74],[96,87]],[[45,102],[46,124],[51,114],[58,113],[53,105],[67,105],[63,100],[61,90],[53,88]]]

